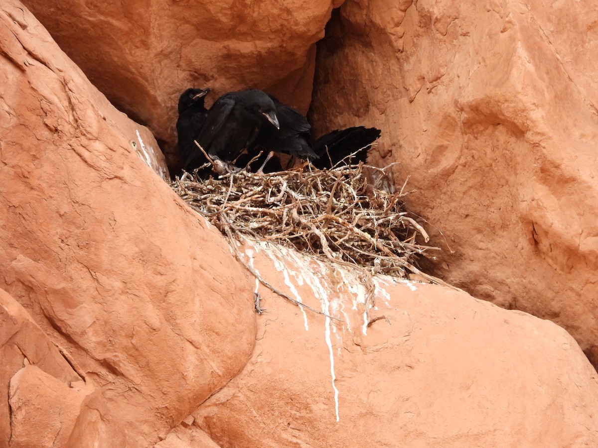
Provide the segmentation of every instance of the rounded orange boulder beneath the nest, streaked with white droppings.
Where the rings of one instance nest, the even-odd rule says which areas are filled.
[[[596,446],[596,372],[565,330],[446,287],[377,283],[385,316],[364,328],[364,289],[343,268],[246,248],[291,297],[260,287],[254,354],[193,413],[222,447]],[[192,426],[192,427],[193,427]]]

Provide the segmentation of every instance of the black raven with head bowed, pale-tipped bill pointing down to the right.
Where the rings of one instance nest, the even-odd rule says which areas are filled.
[[[262,127],[280,127],[270,97],[255,89],[229,92],[210,108],[197,142],[212,160],[233,162],[252,145]],[[204,157],[197,149],[185,166]]]

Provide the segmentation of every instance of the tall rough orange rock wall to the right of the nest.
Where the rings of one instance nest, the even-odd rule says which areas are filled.
[[[594,366],[596,23],[587,1],[347,0],[311,114],[320,132],[382,128],[372,161],[401,162],[411,209],[447,238],[432,231],[446,250],[435,273],[550,318]]]

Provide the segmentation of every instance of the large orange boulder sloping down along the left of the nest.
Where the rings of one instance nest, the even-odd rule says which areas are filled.
[[[151,133],[114,109],[16,0],[0,6],[0,79],[0,287],[47,335],[21,311],[31,330],[2,329],[12,353],[2,400],[19,410],[13,442],[31,446],[36,426],[48,431],[41,446],[54,434],[56,446],[156,443],[245,366],[253,284],[130,144],[155,145]],[[32,340],[23,349],[17,336]],[[94,391],[86,400],[48,338],[80,366]],[[32,366],[19,370],[14,347]]]

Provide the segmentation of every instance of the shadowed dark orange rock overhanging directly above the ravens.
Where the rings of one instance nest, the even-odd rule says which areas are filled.
[[[261,88],[307,111],[315,42],[338,0],[25,1],[60,47],[121,111],[175,143],[188,87]],[[337,6],[337,5],[335,5]]]

